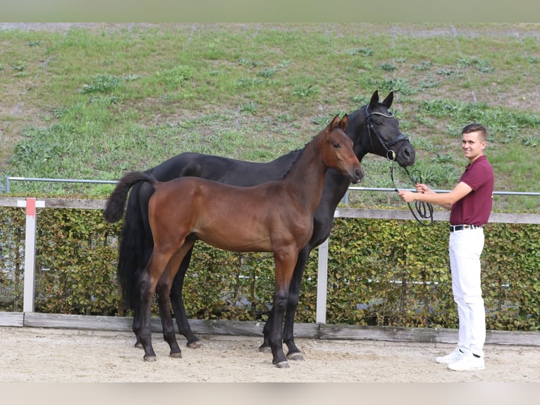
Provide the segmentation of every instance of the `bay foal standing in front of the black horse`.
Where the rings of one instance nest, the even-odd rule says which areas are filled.
[[[288,368],[283,353],[283,316],[298,253],[313,233],[313,217],[328,169],[336,169],[354,183],[364,177],[352,140],[343,132],[348,123],[336,115],[297,155],[281,180],[239,187],[198,177],[156,181],[142,171],[120,180],[130,187],[139,181],[155,191],[148,203],[154,250],[140,275],[140,343],[144,359],[155,361],[150,313],[157,294],[164,339],[171,356],[181,357],[169,309],[173,279],[195,241],[235,252],[271,252],[275,262],[274,323],[270,332],[272,363]]]

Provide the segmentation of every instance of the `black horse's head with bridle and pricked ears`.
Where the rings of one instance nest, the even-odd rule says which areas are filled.
[[[393,101],[390,92],[383,102],[379,102],[379,92],[375,90],[369,104],[364,107],[364,119],[369,135],[368,152],[389,160],[395,160],[401,167],[415,163],[415,148],[399,129],[399,121],[388,111]]]

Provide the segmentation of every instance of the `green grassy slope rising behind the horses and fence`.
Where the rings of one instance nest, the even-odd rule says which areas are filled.
[[[415,169],[451,188],[460,128],[489,130],[496,190],[539,191],[535,25],[166,24],[0,32],[0,175],[115,180],[180,152],[259,162],[302,147],[374,90],[417,149]],[[519,35],[515,35],[515,33]],[[362,186],[392,187],[384,159]],[[400,186],[411,187],[403,171]],[[11,183],[13,195],[106,198],[112,186]],[[403,207],[395,193],[356,205]],[[496,198],[537,212],[538,198]]]

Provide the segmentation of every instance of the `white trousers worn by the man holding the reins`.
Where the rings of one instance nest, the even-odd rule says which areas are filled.
[[[486,310],[482,298],[480,255],[484,229],[450,232],[448,253],[452,271],[452,292],[460,320],[458,347],[464,353],[484,357]]]

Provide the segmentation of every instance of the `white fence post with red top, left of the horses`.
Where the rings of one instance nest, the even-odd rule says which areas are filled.
[[[23,312],[34,312],[34,279],[36,255],[36,207],[44,207],[45,202],[36,203],[35,198],[18,201],[18,207],[26,207],[25,229],[25,284],[23,296]]]

